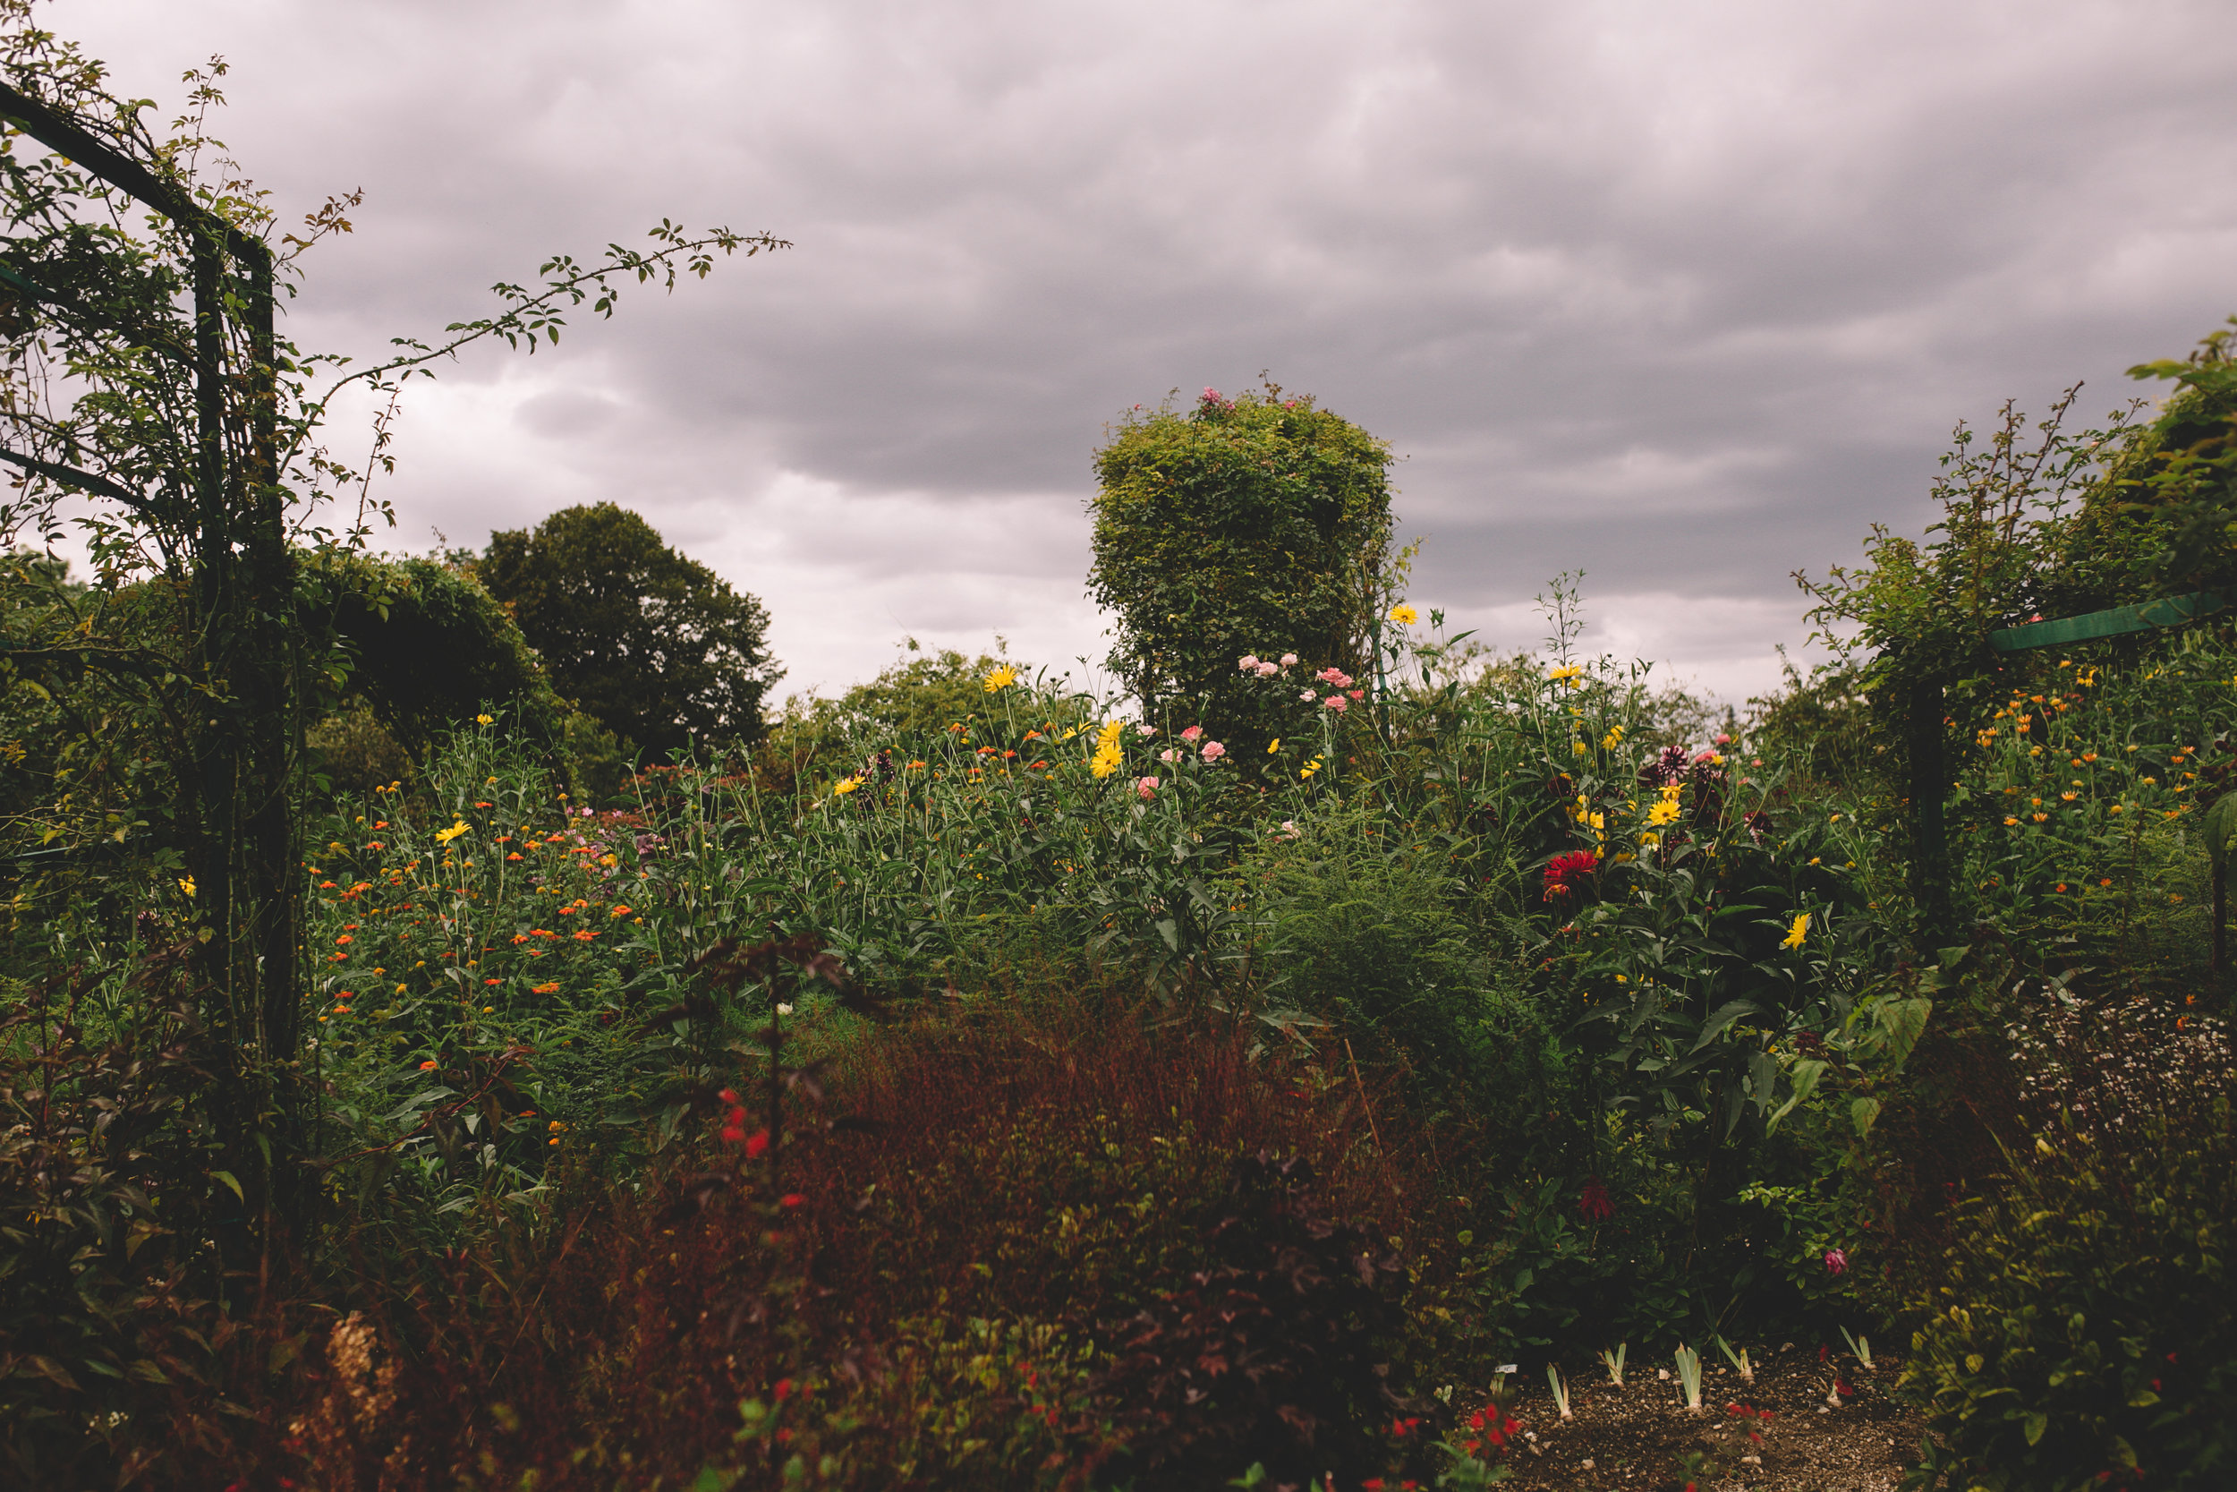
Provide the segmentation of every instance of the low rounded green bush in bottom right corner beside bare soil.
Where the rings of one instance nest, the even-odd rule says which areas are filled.
[[[1964,1203],[1917,1302],[1926,1479],[1991,1492],[2217,1488],[2237,1463],[2237,1127],[2228,1098],[2063,1125]]]

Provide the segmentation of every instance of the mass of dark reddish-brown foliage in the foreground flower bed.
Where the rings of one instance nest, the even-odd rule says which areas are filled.
[[[559,1177],[535,1228],[344,1315],[284,1414],[286,1474],[1148,1490],[1250,1461],[1380,1470],[1434,1165],[1391,1114],[1376,1145],[1333,1063],[1253,1045],[1224,1018],[971,1000],[792,1083],[776,1125],[709,1092],[698,1156]],[[765,1127],[781,1172],[774,1139],[743,1161]]]

